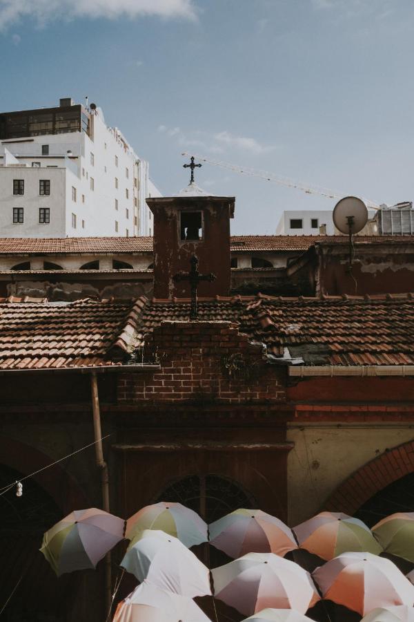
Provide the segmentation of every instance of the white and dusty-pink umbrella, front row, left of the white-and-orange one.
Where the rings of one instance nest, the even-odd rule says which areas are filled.
[[[266,607],[305,613],[319,601],[311,575],[274,553],[248,553],[211,573],[215,596],[245,615]]]

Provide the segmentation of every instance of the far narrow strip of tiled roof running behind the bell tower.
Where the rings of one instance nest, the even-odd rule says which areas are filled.
[[[356,236],[355,243],[414,243],[414,236]],[[306,251],[316,243],[346,243],[346,236],[231,236],[233,252]],[[151,237],[0,238],[0,254],[152,253]]]

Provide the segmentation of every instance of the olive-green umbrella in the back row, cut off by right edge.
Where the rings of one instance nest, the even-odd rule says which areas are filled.
[[[373,527],[384,551],[414,563],[414,512],[386,516]]]

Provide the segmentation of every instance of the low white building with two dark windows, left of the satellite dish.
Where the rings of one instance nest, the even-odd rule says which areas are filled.
[[[326,225],[326,234],[333,236],[335,227],[331,209],[284,211],[276,227],[277,236],[319,236],[319,227]]]

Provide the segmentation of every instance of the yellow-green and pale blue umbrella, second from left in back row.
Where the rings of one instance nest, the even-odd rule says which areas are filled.
[[[132,540],[144,529],[161,529],[181,540],[186,547],[208,540],[206,522],[181,503],[160,501],[143,507],[126,521],[125,536]]]

